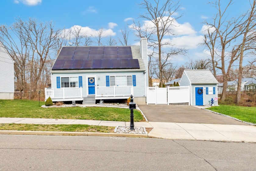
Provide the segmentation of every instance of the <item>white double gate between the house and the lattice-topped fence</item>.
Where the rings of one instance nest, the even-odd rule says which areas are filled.
[[[167,89],[148,87],[147,104],[167,104]]]

